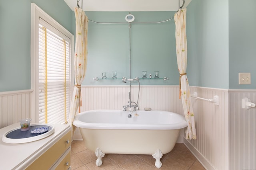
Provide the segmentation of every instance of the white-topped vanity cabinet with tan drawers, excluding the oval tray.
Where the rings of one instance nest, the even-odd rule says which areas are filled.
[[[17,126],[10,125],[0,129],[0,137]],[[54,133],[38,141],[8,144],[0,142],[1,169],[10,170],[69,170],[71,152],[71,127],[54,125]],[[3,165],[3,166],[2,166]]]

